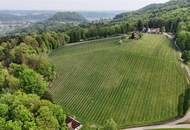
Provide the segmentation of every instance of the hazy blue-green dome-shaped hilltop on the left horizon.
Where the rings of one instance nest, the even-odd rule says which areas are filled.
[[[48,19],[50,22],[84,23],[86,18],[77,12],[57,12]]]

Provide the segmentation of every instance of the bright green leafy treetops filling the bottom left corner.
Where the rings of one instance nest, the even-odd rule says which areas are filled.
[[[63,109],[33,94],[16,92],[0,97],[0,129],[62,130],[65,128]]]

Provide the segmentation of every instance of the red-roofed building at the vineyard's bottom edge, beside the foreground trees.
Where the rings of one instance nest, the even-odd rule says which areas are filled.
[[[75,120],[74,118],[67,116],[66,118],[66,124],[69,130],[79,130],[82,125],[79,123],[79,121]]]

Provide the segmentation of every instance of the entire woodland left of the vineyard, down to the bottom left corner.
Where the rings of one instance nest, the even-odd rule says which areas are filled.
[[[55,78],[44,55],[69,40],[56,32],[0,38],[1,130],[66,130],[63,109],[42,99],[53,101],[47,88]]]

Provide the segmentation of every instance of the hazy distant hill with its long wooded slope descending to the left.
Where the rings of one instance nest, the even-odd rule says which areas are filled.
[[[76,12],[57,12],[54,13],[48,19],[31,24],[28,27],[18,28],[14,31],[10,31],[7,35],[14,34],[27,34],[31,32],[43,32],[43,31],[60,31],[79,24],[85,24],[88,20],[81,14]]]

